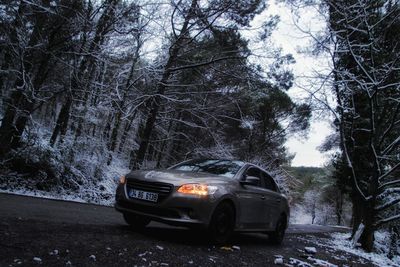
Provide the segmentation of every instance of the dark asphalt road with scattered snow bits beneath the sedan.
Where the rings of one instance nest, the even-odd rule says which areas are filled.
[[[275,266],[276,255],[303,262],[289,266],[321,266],[312,258],[373,266],[329,248],[329,233],[338,231],[347,230],[291,225],[282,246],[262,234],[236,234],[215,247],[201,232],[160,223],[135,232],[111,207],[0,194],[0,266]],[[317,253],[307,255],[306,246]]]

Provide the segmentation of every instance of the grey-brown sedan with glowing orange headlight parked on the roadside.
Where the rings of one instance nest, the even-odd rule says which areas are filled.
[[[239,160],[194,159],[122,176],[115,209],[134,228],[150,221],[205,229],[223,244],[232,233],[263,232],[280,244],[290,210],[269,173]]]

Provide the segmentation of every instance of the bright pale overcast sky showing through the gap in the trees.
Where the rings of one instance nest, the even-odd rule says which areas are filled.
[[[307,95],[300,88],[301,85],[309,82],[303,77],[310,76],[313,71],[327,69],[328,66],[327,59],[324,60],[321,57],[315,58],[311,55],[298,52],[306,48],[310,43],[309,35],[304,33],[303,30],[316,32],[323,29],[325,25],[319,19],[320,17],[316,10],[303,10],[300,20],[297,21],[296,16],[291,13],[289,7],[284,4],[276,4],[274,0],[270,0],[269,8],[254,19],[252,26],[257,27],[269,15],[279,15],[280,17],[278,27],[271,36],[272,43],[281,46],[284,53],[293,54],[296,60],[296,63],[292,66],[296,77],[295,85],[288,92],[292,99],[296,101]],[[318,146],[322,144],[325,137],[331,132],[329,119],[317,120],[313,118],[308,138],[289,137],[286,147],[290,153],[295,153],[292,166],[323,166],[329,160],[329,155],[321,153],[318,150]]]

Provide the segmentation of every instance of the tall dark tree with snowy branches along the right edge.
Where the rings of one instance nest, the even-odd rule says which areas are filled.
[[[328,35],[313,36],[314,52],[326,52],[332,62],[331,73],[320,75],[330,92],[309,91],[335,117],[340,172],[351,186],[353,231],[364,224],[360,242],[371,251],[375,230],[400,218],[393,212],[400,202],[399,3],[308,3],[320,4],[328,26]],[[332,95],[335,108],[327,101]]]

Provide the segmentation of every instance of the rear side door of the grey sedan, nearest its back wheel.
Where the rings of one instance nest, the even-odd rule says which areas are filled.
[[[261,175],[264,180],[267,228],[269,230],[274,230],[281,213],[281,202],[283,201],[283,198],[274,179],[264,171],[261,172]]]

